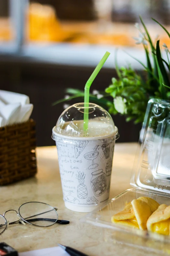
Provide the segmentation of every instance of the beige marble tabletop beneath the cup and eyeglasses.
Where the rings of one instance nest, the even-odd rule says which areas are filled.
[[[136,143],[116,143],[111,176],[110,198],[131,188],[130,176],[135,158]],[[53,225],[49,228],[31,225],[12,225],[0,236],[19,252],[55,247],[57,243],[74,247],[90,256],[155,255],[124,244],[106,242],[103,230],[79,222],[86,213],[73,212],[65,208],[55,146],[36,149],[38,173],[34,178],[0,188],[0,213],[9,209],[18,211],[28,201],[45,202],[58,208],[59,219],[70,220],[69,225]],[[17,220],[15,212],[6,214],[9,221]]]

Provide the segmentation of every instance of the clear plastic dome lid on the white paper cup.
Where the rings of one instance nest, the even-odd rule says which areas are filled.
[[[118,128],[114,125],[110,114],[102,107],[89,103],[89,121],[88,128],[83,129],[84,125],[84,103],[77,103],[67,108],[59,117],[56,126],[52,130],[53,140],[65,137],[67,139],[76,138],[76,140],[88,137],[91,139],[111,138],[117,139]]]

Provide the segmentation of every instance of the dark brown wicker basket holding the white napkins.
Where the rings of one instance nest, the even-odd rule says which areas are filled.
[[[35,147],[35,122],[32,119],[0,128],[0,185],[36,174]]]

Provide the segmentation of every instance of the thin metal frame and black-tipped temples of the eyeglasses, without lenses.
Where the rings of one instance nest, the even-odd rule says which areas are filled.
[[[50,211],[47,211],[47,212],[35,214],[35,215],[33,215],[33,216],[29,216],[29,217],[26,217],[26,218],[24,219],[24,218],[21,217],[20,208],[21,208],[21,206],[23,206],[23,205],[25,205],[25,204],[29,204],[29,203],[41,203],[41,204],[45,204],[45,205],[48,205],[49,207],[51,207],[51,210],[50,210]],[[53,226],[55,223],[59,223],[59,224],[69,224],[69,223],[70,223],[68,220],[59,220],[59,219],[58,219],[58,213],[57,213],[57,210],[58,210],[58,209],[57,209],[56,207],[52,207],[50,204],[46,204],[46,203],[42,203],[42,202],[31,201],[31,202],[24,203],[24,204],[22,204],[21,206],[19,207],[18,212],[17,212],[16,210],[11,209],[11,210],[7,210],[3,215],[0,214],[0,217],[3,217],[3,218],[5,219],[5,221],[6,221],[5,224],[0,224],[0,228],[1,228],[2,226],[5,226],[5,225],[6,225],[5,229],[4,229],[2,232],[0,232],[0,235],[5,232],[5,230],[7,229],[8,225],[13,225],[13,224],[21,224],[21,223],[22,223],[22,224],[25,225],[26,223],[28,223],[28,224],[33,225],[33,226],[36,226],[36,227],[47,228],[47,227]],[[29,219],[29,218],[36,217],[36,216],[39,216],[39,215],[44,214],[44,213],[49,213],[49,212],[51,212],[51,211],[53,211],[53,210],[54,210],[55,213],[56,213],[56,217],[57,217],[56,219],[49,219],[49,218],[35,218],[35,219]],[[20,217],[20,219],[19,219],[19,220],[16,220],[16,221],[13,221],[13,222],[10,222],[10,223],[7,223],[7,219],[5,218],[5,214],[6,214],[7,212],[10,212],[10,211],[16,212],[17,215]],[[36,225],[36,224],[30,223],[30,222],[28,222],[26,219],[29,219],[29,221],[33,221],[33,222],[34,222],[34,221],[45,220],[45,221],[51,221],[51,222],[53,222],[53,223],[52,223],[51,225],[41,226],[41,225]],[[26,223],[25,223],[25,222],[26,222]]]

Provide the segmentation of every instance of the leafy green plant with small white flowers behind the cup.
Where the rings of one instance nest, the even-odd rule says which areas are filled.
[[[155,19],[153,20],[165,30],[170,38],[170,33],[166,28]],[[150,98],[170,100],[169,49],[166,44],[163,44],[167,56],[167,60],[164,60],[160,49],[160,40],[153,43],[141,17],[140,21],[143,30],[139,24],[135,24],[139,31],[139,38],[134,37],[134,39],[136,44],[143,44],[147,65],[130,56],[143,66],[143,73],[138,74],[130,66],[119,68],[116,58],[115,65],[118,78],[112,78],[111,84],[105,89],[105,92],[94,90],[90,94],[91,102],[101,105],[110,114],[125,115],[127,122],[134,119],[135,123],[143,122]],[[84,97],[84,92],[77,89],[68,88],[66,93],[69,95],[66,95],[65,99],[59,100],[53,105],[71,99],[82,98],[83,100]]]

